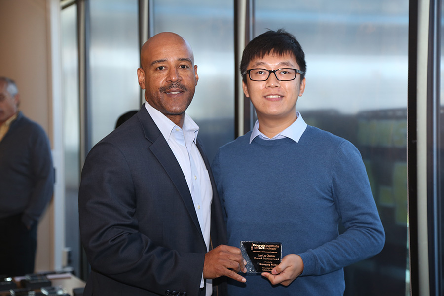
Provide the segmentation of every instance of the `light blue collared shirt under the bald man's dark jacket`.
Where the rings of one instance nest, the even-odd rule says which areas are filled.
[[[208,251],[210,247],[213,188],[211,187],[210,175],[208,174],[205,162],[196,145],[199,126],[186,113],[184,125],[181,128],[162,114],[162,112],[149,105],[148,102],[145,102],[145,108],[181,166],[189,192],[191,192],[194,209],[196,210],[197,219],[199,220],[200,229]],[[194,188],[196,188],[196,190]],[[203,287],[204,279],[202,274],[200,288]],[[211,291],[212,280],[207,280],[207,295],[211,295]]]

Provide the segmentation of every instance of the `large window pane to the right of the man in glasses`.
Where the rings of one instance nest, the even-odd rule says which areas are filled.
[[[383,251],[345,268],[345,295],[406,295],[408,1],[255,1],[254,35],[285,28],[301,43],[308,124],[351,141],[386,231]],[[407,283],[406,283],[407,281]]]

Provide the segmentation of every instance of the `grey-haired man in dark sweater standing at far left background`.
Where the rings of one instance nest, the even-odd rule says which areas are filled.
[[[37,223],[54,190],[48,137],[18,106],[17,85],[0,77],[0,274],[7,276],[34,273]]]

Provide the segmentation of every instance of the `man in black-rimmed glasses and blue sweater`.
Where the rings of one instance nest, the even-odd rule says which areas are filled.
[[[374,256],[385,242],[361,155],[296,111],[306,63],[293,35],[254,38],[240,70],[258,121],[213,162],[228,245],[281,242],[283,258],[271,272],[231,282],[228,294],[343,295],[343,267]],[[340,235],[339,222],[346,229]]]

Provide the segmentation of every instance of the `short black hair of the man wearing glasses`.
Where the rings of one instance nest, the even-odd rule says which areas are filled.
[[[304,73],[307,71],[307,64],[305,63],[305,54],[300,46],[296,37],[288,33],[284,29],[277,31],[268,30],[267,32],[260,34],[251,40],[247,46],[245,46],[242,53],[242,60],[240,64],[240,72],[244,82],[247,81],[247,75],[244,74],[247,71],[248,64],[255,58],[263,58],[267,54],[293,54],[297,64]],[[305,74],[301,75],[301,80]]]

